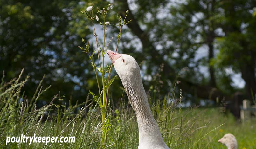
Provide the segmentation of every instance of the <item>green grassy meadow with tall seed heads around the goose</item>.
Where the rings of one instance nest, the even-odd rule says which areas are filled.
[[[20,77],[19,77],[20,78]],[[62,96],[53,97],[49,105],[37,108],[35,103],[45,94],[39,84],[33,99],[24,99],[21,88],[25,81],[14,79],[0,85],[0,148],[101,148],[101,110],[88,97],[80,105],[61,105]],[[125,94],[125,93],[124,93]],[[24,100],[23,100],[24,99]],[[55,100],[59,104],[53,104]],[[135,113],[122,100],[120,107],[108,107],[106,148],[138,146],[138,126]],[[110,105],[110,104],[109,104]],[[79,108],[80,107],[80,108]],[[151,110],[167,146],[174,149],[225,149],[218,143],[225,133],[232,133],[239,148],[256,147],[256,120],[238,123],[233,116],[216,108],[175,108],[160,101]],[[46,114],[48,113],[48,114]],[[6,143],[7,136],[75,136],[75,143]]]

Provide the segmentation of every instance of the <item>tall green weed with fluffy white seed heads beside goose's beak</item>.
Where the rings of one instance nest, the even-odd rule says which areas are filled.
[[[111,43],[111,41],[114,38],[109,39],[108,44],[106,44],[106,34],[107,34],[107,28],[112,25],[112,23],[110,23],[109,21],[106,20],[106,16],[109,13],[108,11],[111,11],[113,9],[113,4],[108,4],[106,8],[100,9],[97,7],[97,9],[94,9],[94,5],[92,6],[88,6],[86,11],[81,11],[81,13],[83,15],[86,16],[86,18],[88,19],[88,21],[92,22],[92,26],[93,26],[93,36],[95,37],[95,45],[96,45],[96,49],[95,51],[89,51],[90,48],[90,43],[87,42],[82,38],[82,42],[85,44],[85,48],[83,47],[79,47],[83,52],[87,53],[89,55],[89,59],[91,61],[92,67],[94,69],[95,72],[95,76],[96,76],[96,80],[97,80],[97,84],[98,84],[98,89],[99,89],[99,93],[93,93],[90,92],[90,94],[93,96],[93,100],[95,102],[97,102],[97,104],[99,105],[100,109],[101,109],[101,122],[102,122],[102,147],[105,147],[106,145],[106,139],[107,139],[107,131],[109,129],[109,117],[106,118],[107,116],[107,96],[108,96],[108,89],[110,87],[110,85],[112,84],[112,82],[114,81],[115,77],[114,76],[112,79],[110,79],[110,73],[112,70],[112,66],[113,64],[111,64],[111,66],[107,66],[105,67],[105,58],[104,55],[107,51],[107,48],[109,46],[109,44]],[[97,11],[97,13],[96,13]],[[129,13],[129,11],[126,11],[126,16]],[[116,44],[116,49],[115,52],[117,52],[118,49],[118,44],[121,38],[121,30],[122,27],[128,23],[131,22],[128,21],[126,22],[126,16],[124,19],[121,18],[120,15],[118,15],[117,13],[117,18],[119,20],[118,24],[113,24],[114,26],[119,27],[119,34],[117,36],[117,44]],[[100,26],[103,29],[103,43],[100,43],[98,38],[97,38],[97,33],[96,33],[96,29],[95,29],[95,23],[99,23]],[[95,60],[93,58],[94,53],[97,52],[97,61],[98,61],[98,66],[95,63]],[[101,55],[101,58],[100,58]],[[102,86],[100,86],[100,79],[98,77],[98,73],[101,74],[101,79],[102,79]],[[105,78],[105,74],[108,73],[108,77]],[[110,115],[109,115],[110,116]]]

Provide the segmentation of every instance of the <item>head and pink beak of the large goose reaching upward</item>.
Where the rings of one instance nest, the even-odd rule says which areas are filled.
[[[111,50],[107,50],[107,54],[121,80],[132,81],[135,76],[140,77],[140,67],[131,55],[119,54]]]

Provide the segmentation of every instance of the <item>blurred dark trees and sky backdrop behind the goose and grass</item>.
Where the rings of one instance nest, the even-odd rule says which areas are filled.
[[[39,107],[59,92],[73,103],[85,101],[89,90],[97,93],[89,56],[78,48],[81,38],[91,41],[91,52],[95,43],[92,24],[80,11],[109,3],[114,5],[107,18],[111,24],[118,23],[116,12],[124,18],[130,11],[127,20],[133,21],[123,28],[118,52],[139,63],[150,101],[163,100],[173,89],[179,96],[182,89],[183,107],[221,105],[237,118],[243,99],[253,103],[255,0],[0,0],[0,71],[5,81],[24,68],[30,76],[25,98],[30,99],[45,74],[43,86],[51,88],[38,100]],[[118,32],[118,27],[109,27],[107,41],[114,37],[109,49],[115,49]],[[100,38],[100,25],[96,33]],[[117,78],[109,89],[113,106],[122,93]]]

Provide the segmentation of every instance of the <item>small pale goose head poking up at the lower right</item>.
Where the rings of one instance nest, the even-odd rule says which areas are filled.
[[[231,133],[225,134],[218,142],[227,146],[228,149],[237,149],[236,137]]]

